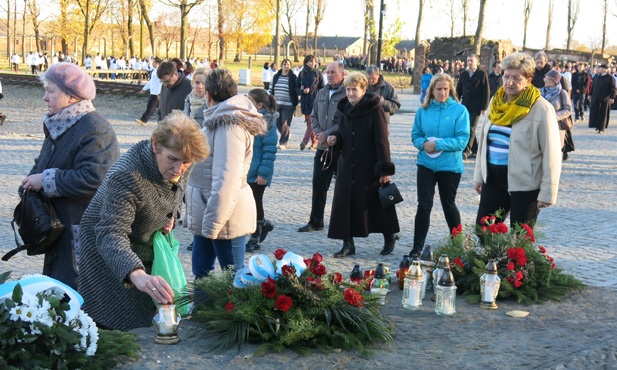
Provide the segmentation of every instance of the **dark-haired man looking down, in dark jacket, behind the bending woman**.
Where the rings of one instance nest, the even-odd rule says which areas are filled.
[[[172,62],[163,62],[156,70],[161,80],[161,99],[159,109],[161,119],[167,117],[174,109],[184,110],[184,99],[191,93],[191,81],[184,75],[178,75],[178,69]]]

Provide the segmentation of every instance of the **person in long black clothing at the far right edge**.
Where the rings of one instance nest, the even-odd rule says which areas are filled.
[[[608,74],[608,66],[598,66],[598,73],[591,82],[591,93],[587,99],[591,100],[589,107],[589,127],[595,128],[601,134],[608,126],[611,105],[615,102],[617,88],[615,79]]]

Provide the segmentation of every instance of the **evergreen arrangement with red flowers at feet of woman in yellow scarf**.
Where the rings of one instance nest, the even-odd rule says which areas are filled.
[[[584,286],[559,269],[546,248],[534,246],[533,230],[526,224],[508,230],[497,217],[486,216],[481,226],[469,230],[454,228],[437,246],[436,256],[448,255],[458,292],[470,302],[480,301],[480,276],[489,260],[495,260],[501,277],[498,298],[527,304],[558,301]]]

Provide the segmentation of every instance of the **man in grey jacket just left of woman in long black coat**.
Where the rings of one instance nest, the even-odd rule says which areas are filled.
[[[328,150],[326,139],[338,128],[338,102],[346,96],[343,86],[345,66],[342,62],[331,62],[328,64],[326,74],[328,84],[317,92],[311,113],[311,125],[318,140],[313,161],[311,215],[308,224],[299,228],[299,232],[323,230],[328,189],[338,161],[338,155],[335,155],[333,150]]]

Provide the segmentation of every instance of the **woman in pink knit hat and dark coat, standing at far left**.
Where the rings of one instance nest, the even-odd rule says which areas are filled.
[[[65,230],[45,254],[43,274],[77,289],[81,216],[120,151],[114,129],[92,105],[96,86],[84,70],[57,63],[41,80],[45,140],[19,192],[41,191],[51,199]]]

